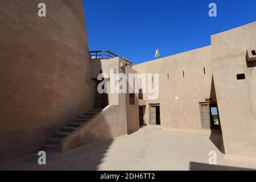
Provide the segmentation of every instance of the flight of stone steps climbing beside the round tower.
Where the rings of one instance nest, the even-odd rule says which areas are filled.
[[[53,138],[48,139],[47,143],[43,146],[44,151],[58,151],[60,148],[61,140],[71,134],[73,131],[78,129],[82,124],[87,122],[89,119],[94,117],[97,113],[99,113],[103,108],[97,107],[88,112],[84,113],[77,119],[73,119],[72,122],[68,123],[63,129],[54,135]]]

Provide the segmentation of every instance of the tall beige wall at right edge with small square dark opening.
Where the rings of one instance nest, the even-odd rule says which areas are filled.
[[[256,49],[256,22],[211,36],[212,67],[225,153],[256,157],[256,68],[246,51]],[[245,73],[245,80],[237,74]]]

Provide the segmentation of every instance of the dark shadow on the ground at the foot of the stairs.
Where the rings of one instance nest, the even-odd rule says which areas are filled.
[[[67,152],[47,152],[47,164],[38,164],[39,156],[31,154],[18,163],[1,165],[3,171],[95,171],[99,168],[113,140],[74,148]],[[92,149],[93,148],[93,149]],[[86,152],[85,152],[86,151]]]

